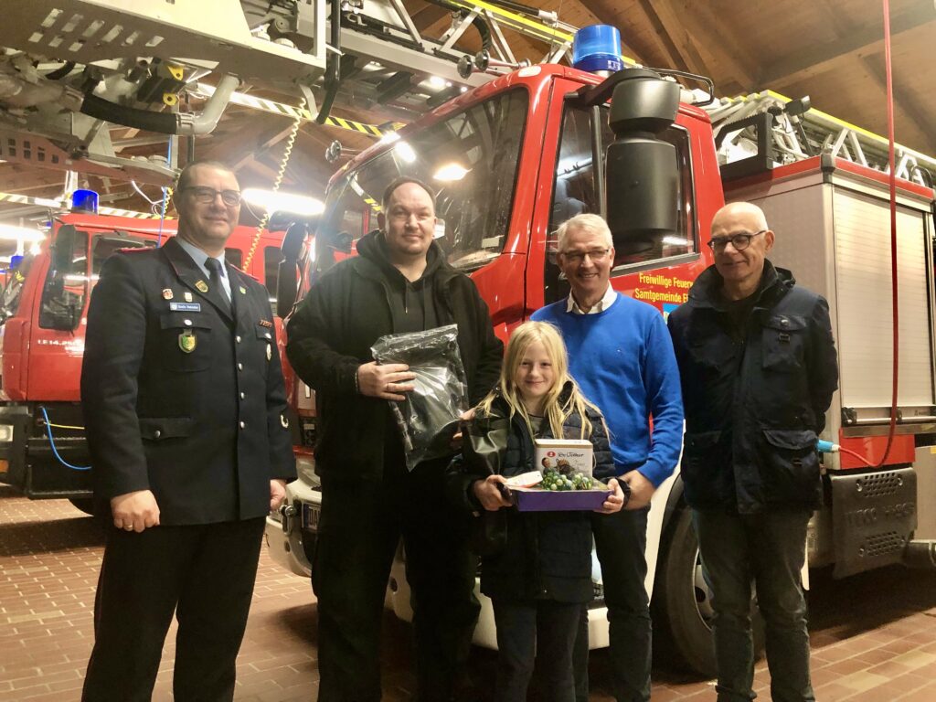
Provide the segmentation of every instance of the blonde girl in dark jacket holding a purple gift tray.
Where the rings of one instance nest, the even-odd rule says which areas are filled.
[[[481,592],[490,596],[497,625],[498,668],[494,699],[523,702],[542,656],[543,699],[574,702],[572,649],[584,603],[592,599],[592,526],[586,512],[524,512],[513,508],[505,478],[534,465],[535,438],[592,442],[596,469],[613,467],[601,412],[582,396],[568,374],[559,332],[544,322],[526,322],[507,344],[501,379],[476,408],[466,441],[497,446],[470,450],[450,472],[458,499],[488,516],[496,514],[500,548],[481,557]],[[596,472],[600,472],[596,470]],[[623,504],[621,487],[603,513]]]

